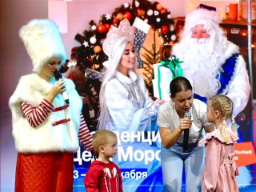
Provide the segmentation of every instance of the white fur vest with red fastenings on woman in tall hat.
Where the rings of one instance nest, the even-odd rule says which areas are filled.
[[[38,107],[43,98],[50,92],[54,84],[39,78],[38,74],[22,76],[14,94],[10,97],[9,106],[12,112],[13,136],[15,147],[21,153],[76,151],[79,147],[78,130],[80,127],[80,113],[82,100],[74,89],[74,83],[65,79],[66,92],[70,99],[70,106],[66,110],[50,112],[42,124],[33,128],[22,112],[21,102]],[[54,107],[65,105],[62,95],[58,94],[52,103]],[[70,118],[70,122],[52,126],[54,122]]]

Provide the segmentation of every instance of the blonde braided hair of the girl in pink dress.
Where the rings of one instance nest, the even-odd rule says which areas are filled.
[[[216,95],[211,100],[211,108],[212,110],[218,110],[220,112],[220,116],[222,118],[222,127],[221,127],[221,134],[224,138],[225,142],[228,142],[229,139],[226,137],[225,125],[226,120],[230,119],[232,122],[231,130],[233,130],[234,134],[238,136],[238,132],[234,126],[234,119],[232,119],[233,113],[233,102],[231,99],[225,95]]]

